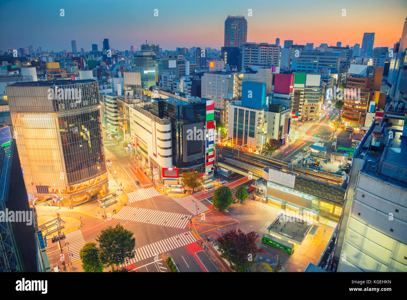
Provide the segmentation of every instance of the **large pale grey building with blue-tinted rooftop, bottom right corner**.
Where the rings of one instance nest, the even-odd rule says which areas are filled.
[[[387,104],[383,117],[370,122],[367,136],[353,149],[344,211],[333,247],[332,266],[337,268],[332,271],[406,271],[407,126],[405,122],[400,125],[406,113],[405,103]],[[371,121],[374,118],[372,113]]]

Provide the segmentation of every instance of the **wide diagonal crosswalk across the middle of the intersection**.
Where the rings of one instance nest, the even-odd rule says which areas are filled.
[[[141,222],[168,227],[184,229],[188,224],[188,215],[181,213],[170,213],[168,211],[156,211],[152,209],[144,209],[138,207],[124,207],[119,213],[116,213],[113,218],[133,222]]]

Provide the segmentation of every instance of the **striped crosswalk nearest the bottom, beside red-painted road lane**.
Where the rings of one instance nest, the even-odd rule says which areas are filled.
[[[195,238],[190,232],[186,231],[176,236],[172,236],[171,238],[166,238],[165,240],[148,244],[147,246],[136,249],[134,258],[131,258],[125,264],[120,265],[120,267],[125,267],[129,264],[134,264],[147,258],[158,258],[158,255],[164,252],[183,247],[193,242],[196,242]]]

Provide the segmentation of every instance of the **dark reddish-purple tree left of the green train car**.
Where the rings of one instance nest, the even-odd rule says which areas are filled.
[[[265,253],[256,245],[258,238],[260,236],[255,231],[245,234],[240,229],[233,229],[222,233],[216,241],[219,242],[221,257],[228,260],[231,269],[244,272],[251,267],[258,253]]]

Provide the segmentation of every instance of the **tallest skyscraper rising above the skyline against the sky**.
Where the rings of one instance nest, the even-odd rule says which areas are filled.
[[[225,47],[242,47],[247,42],[247,20],[228,16],[225,20]]]

